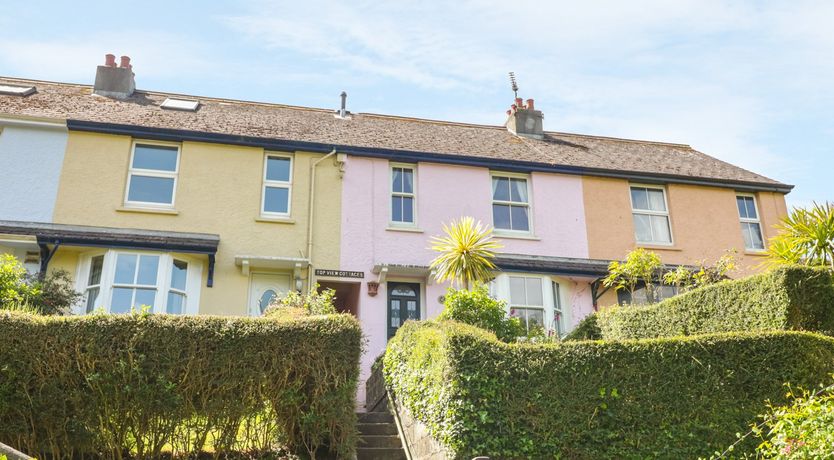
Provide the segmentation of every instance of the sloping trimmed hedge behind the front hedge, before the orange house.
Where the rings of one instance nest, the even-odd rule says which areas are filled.
[[[612,307],[597,315],[606,340],[730,331],[834,332],[830,272],[791,266],[695,289],[655,305]]]

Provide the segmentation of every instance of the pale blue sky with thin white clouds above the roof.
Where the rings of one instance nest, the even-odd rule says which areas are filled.
[[[114,6],[115,5],[115,6]],[[0,17],[0,75],[687,143],[834,201],[834,2],[48,2]],[[8,9],[7,9],[8,10]]]

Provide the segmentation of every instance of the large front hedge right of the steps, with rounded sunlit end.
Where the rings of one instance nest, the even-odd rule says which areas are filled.
[[[384,357],[396,397],[457,458],[709,456],[784,382],[832,371],[834,339],[806,332],[525,345],[409,322]]]

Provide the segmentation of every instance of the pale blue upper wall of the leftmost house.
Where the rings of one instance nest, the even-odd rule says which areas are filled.
[[[67,131],[0,120],[0,220],[49,222],[55,208]]]

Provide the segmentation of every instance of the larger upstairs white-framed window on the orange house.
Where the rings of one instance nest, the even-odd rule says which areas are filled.
[[[672,244],[666,190],[656,185],[631,186],[634,238],[638,243]]]

